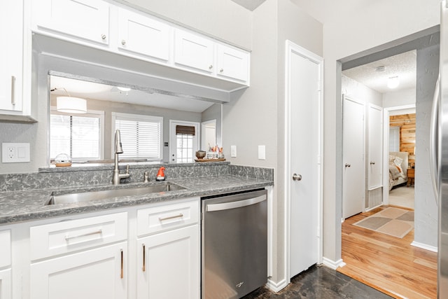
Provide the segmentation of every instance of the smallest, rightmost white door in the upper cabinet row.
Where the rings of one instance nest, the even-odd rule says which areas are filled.
[[[224,76],[239,81],[248,81],[249,53],[228,46],[218,46],[217,60],[218,76]]]

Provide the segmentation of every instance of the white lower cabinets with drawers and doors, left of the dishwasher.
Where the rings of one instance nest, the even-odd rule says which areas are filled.
[[[0,299],[199,299],[199,223],[194,197],[0,228]]]

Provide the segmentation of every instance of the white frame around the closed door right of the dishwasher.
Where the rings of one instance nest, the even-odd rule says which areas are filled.
[[[319,81],[318,81],[318,264],[322,263],[323,260],[323,58],[310,52],[309,50],[297,46],[297,44],[292,41],[286,40],[286,62],[285,62],[285,107],[284,107],[284,128],[285,128],[285,144],[284,144],[284,155],[285,155],[285,171],[283,173],[285,178],[284,185],[284,207],[285,207],[285,218],[284,218],[284,228],[285,228],[285,238],[284,238],[284,284],[285,286],[290,283],[290,139],[291,139],[291,127],[290,127],[290,62],[292,55],[300,55],[305,59],[314,62],[319,67]]]

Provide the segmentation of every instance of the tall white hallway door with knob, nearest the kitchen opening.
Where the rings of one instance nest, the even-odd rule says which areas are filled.
[[[344,97],[342,217],[349,218],[365,206],[364,104]]]

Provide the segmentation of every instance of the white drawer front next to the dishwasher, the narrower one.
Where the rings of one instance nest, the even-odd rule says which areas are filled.
[[[199,199],[137,211],[137,235],[172,230],[199,221]]]

